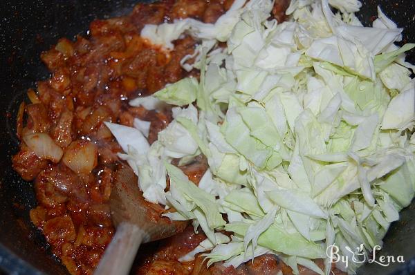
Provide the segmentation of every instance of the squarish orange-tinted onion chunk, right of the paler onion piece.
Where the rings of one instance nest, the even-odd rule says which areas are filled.
[[[89,140],[76,140],[65,151],[64,164],[75,173],[91,173],[98,164],[98,150]]]

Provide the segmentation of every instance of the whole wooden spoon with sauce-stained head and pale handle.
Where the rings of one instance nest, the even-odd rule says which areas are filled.
[[[163,207],[145,201],[136,175],[127,166],[116,172],[110,205],[117,231],[95,270],[96,275],[129,274],[141,243],[167,238],[187,225],[163,218]]]

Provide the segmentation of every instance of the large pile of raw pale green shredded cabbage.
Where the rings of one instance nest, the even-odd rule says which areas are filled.
[[[378,8],[373,27],[353,12],[359,1],[293,0],[290,20],[270,20],[270,0],[237,0],[215,24],[193,19],[145,26],[142,36],[172,48],[183,34],[201,41],[185,78],[150,97],[172,104],[174,120],[149,145],[149,122],[107,123],[149,202],[192,220],[208,238],[208,265],[237,267],[275,254],[295,274],[304,265],[330,274],[326,247],[351,260],[359,247],[382,245],[415,190],[414,68],[398,47],[402,29]],[[218,48],[226,41],[227,48]],[[197,155],[209,169],[199,187],[178,167]],[[169,176],[170,188],[165,191]],[[228,222],[223,219],[226,214]],[[221,231],[229,231],[229,238]],[[313,259],[324,259],[324,270]]]

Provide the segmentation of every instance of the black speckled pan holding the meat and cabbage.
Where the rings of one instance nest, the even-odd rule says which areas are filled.
[[[277,0],[278,1],[278,0]],[[26,91],[48,71],[39,59],[59,37],[85,33],[93,19],[124,15],[134,0],[0,0],[0,267],[10,274],[67,274],[50,254],[42,234],[30,223],[33,186],[11,168],[17,152],[15,117]],[[415,42],[414,0],[366,0],[359,17],[369,24],[376,6],[404,27],[405,41]],[[415,62],[415,52],[408,56]],[[415,202],[401,213],[385,238],[382,254],[403,255],[405,264],[365,265],[360,274],[415,274]]]

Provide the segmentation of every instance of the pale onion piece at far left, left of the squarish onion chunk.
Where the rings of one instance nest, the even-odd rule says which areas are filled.
[[[57,163],[64,151],[50,138],[47,133],[31,133],[23,136],[24,142],[39,158]]]

